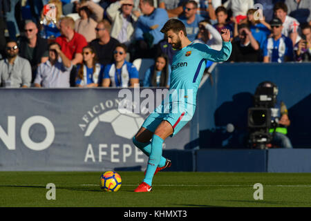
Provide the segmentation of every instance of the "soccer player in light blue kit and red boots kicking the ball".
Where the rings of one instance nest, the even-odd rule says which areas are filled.
[[[191,42],[187,38],[185,25],[178,19],[169,19],[161,32],[167,36],[168,43],[178,51],[171,65],[169,95],[147,117],[133,137],[135,146],[149,156],[144,180],[135,192],[151,191],[153,175],[171,166],[171,161],[162,157],[162,143],[167,137],[176,135],[193,117],[196,93],[206,61],[226,61],[232,52],[228,29],[223,29],[221,33],[221,50],[213,50],[205,44]]]

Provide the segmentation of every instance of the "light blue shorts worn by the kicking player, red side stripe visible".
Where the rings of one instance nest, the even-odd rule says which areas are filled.
[[[176,135],[176,133],[178,133],[181,128],[183,128],[192,119],[194,111],[196,110],[196,105],[178,104],[178,102],[176,102],[175,105],[172,103],[169,105],[171,106],[170,108],[164,108],[163,104],[158,106],[153,113],[151,113],[147,119],[144,120],[142,127],[147,128],[147,130],[154,133],[159,124],[163,120],[166,120],[173,127],[171,137]]]

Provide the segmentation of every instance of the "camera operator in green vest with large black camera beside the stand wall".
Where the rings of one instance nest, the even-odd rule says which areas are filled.
[[[248,111],[249,140],[252,146],[292,148],[287,136],[290,126],[288,108],[276,99],[279,90],[271,81],[263,81],[256,88],[254,108]]]

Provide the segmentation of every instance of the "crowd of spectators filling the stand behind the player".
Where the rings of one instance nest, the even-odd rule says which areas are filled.
[[[309,0],[0,0],[1,87],[168,87],[170,18],[215,50],[228,28],[227,62],[311,61]]]

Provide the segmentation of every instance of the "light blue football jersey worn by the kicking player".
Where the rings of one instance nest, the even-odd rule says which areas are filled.
[[[185,102],[188,104],[196,104],[196,93],[202,75],[205,70],[206,62],[209,61],[227,61],[232,52],[231,42],[223,41],[223,48],[221,50],[211,49],[206,44],[191,43],[185,48],[177,51],[173,57],[171,64],[171,84],[169,91],[183,90],[182,98],[186,97]],[[180,96],[170,97],[170,102],[181,102]],[[168,101],[167,101],[168,102]],[[166,103],[166,102],[164,102]]]

